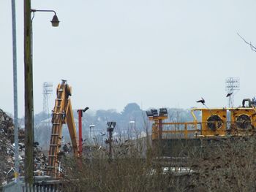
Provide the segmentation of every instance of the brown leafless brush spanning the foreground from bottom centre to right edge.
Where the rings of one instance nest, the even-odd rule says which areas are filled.
[[[142,145],[142,144],[141,144]],[[256,191],[255,137],[220,139],[203,147],[203,155],[189,153],[187,166],[193,174],[177,176],[153,164],[154,151],[128,145],[126,153],[115,145],[113,159],[107,150],[95,151],[92,165],[88,158],[64,158],[67,191]],[[100,153],[100,154],[99,154]],[[120,155],[121,154],[121,155]],[[98,156],[97,156],[98,155]],[[79,166],[78,166],[79,165]]]

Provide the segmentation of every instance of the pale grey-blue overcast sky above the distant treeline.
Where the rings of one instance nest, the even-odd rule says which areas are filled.
[[[225,80],[240,77],[241,99],[256,95],[256,1],[37,0],[34,34],[34,113],[42,111],[42,83],[72,86],[72,107],[123,110],[148,107],[225,107]],[[24,115],[23,1],[16,1],[18,115]],[[13,113],[11,1],[0,1],[0,108]]]

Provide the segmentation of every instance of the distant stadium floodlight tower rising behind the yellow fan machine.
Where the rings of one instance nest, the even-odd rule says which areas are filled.
[[[225,81],[225,91],[227,91],[228,107],[233,107],[234,95],[240,90],[239,77],[228,77]]]

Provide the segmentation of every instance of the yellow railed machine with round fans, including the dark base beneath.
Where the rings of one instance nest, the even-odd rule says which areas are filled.
[[[236,108],[193,108],[192,122],[166,122],[167,113],[160,115],[160,110],[159,115],[157,110],[146,112],[148,120],[153,121],[153,148],[161,152],[157,155],[200,155],[204,147],[217,145],[219,140],[236,142],[239,137],[256,134],[256,99],[244,99]],[[195,112],[200,112],[197,117]]]

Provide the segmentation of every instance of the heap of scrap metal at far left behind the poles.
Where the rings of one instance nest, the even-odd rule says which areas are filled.
[[[24,175],[25,161],[25,134],[24,129],[19,130],[19,161],[20,175]],[[9,183],[14,177],[15,153],[14,153],[14,126],[10,118],[0,109],[0,185]],[[42,173],[47,164],[45,155],[34,143],[34,171]]]

